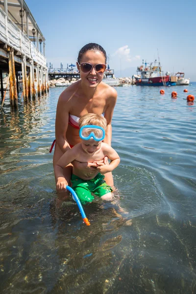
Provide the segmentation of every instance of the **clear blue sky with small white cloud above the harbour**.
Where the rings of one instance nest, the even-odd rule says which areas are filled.
[[[75,62],[89,42],[109,54],[117,75],[158,59],[163,70],[196,81],[196,2],[192,0],[26,0],[46,38],[48,64]],[[121,73],[121,74],[120,74]],[[130,73],[130,74],[129,74]]]

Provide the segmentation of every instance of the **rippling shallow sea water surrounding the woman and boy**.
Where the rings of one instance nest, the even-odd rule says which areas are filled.
[[[0,293],[196,293],[196,102],[118,87],[117,204],[56,198],[49,147],[62,89],[0,113]],[[188,87],[196,97],[196,83]],[[177,99],[171,92],[178,93]],[[191,105],[192,104],[192,105]],[[120,199],[119,199],[120,197]],[[115,214],[116,209],[118,214]]]

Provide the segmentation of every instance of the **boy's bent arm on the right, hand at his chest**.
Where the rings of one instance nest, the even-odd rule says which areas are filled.
[[[105,165],[104,163],[99,164],[97,170],[102,174],[106,172],[112,172],[114,169],[116,169],[116,167],[118,167],[121,161],[119,154],[108,144],[103,143],[103,153],[108,156],[111,162],[109,165]]]

